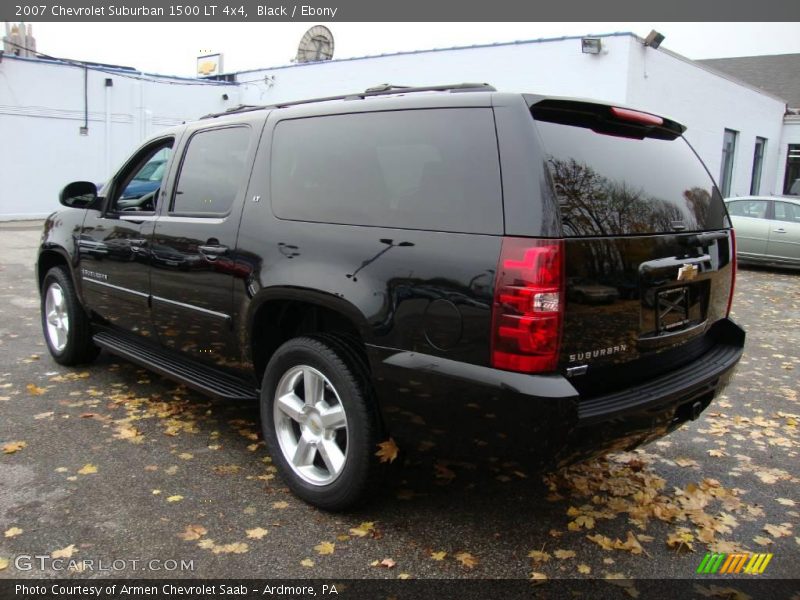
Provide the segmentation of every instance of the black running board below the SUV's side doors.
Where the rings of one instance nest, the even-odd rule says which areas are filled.
[[[246,381],[222,371],[176,357],[146,342],[111,331],[95,333],[94,343],[112,354],[185,384],[198,392],[223,400],[256,400],[258,391]]]

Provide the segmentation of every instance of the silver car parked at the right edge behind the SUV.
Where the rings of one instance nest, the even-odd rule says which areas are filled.
[[[742,196],[725,204],[740,262],[800,267],[800,198]]]

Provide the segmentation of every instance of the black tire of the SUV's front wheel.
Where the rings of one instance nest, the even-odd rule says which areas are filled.
[[[60,290],[63,298],[63,313],[67,317],[63,347],[57,340],[51,339],[48,332],[47,298],[50,288]],[[92,343],[89,317],[75,293],[75,286],[65,267],[53,267],[44,276],[41,293],[42,332],[47,349],[53,359],[62,365],[73,366],[93,361],[100,349]]]

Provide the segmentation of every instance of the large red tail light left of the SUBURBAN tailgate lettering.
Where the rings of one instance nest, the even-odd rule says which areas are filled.
[[[492,366],[539,373],[558,364],[564,242],[503,238],[492,309]]]

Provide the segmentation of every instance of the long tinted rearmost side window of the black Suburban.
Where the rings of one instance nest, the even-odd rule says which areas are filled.
[[[491,109],[436,109],[282,121],[272,205],[280,218],[501,233]]]

